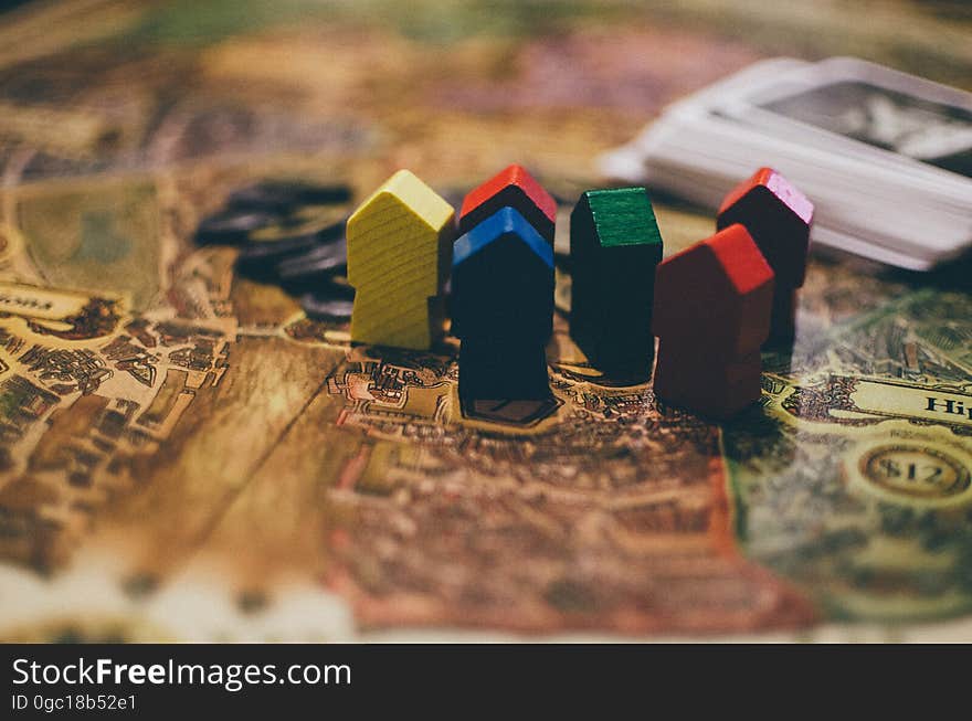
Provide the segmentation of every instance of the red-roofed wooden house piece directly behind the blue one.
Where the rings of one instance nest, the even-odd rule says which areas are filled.
[[[548,243],[553,244],[557,201],[521,166],[508,166],[463,199],[459,235],[506,206],[515,208]]]

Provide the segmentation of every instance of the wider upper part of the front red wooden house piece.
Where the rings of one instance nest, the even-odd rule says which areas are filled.
[[[701,354],[741,356],[767,339],[772,301],[772,268],[746,227],[730,225],[658,264],[652,327]]]

